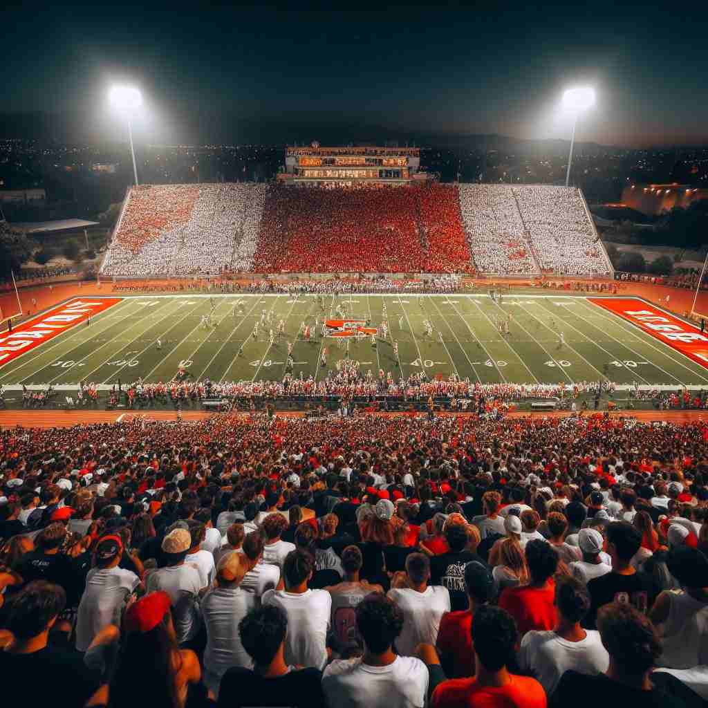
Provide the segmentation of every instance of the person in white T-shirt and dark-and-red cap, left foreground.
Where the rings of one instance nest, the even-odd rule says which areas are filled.
[[[125,600],[140,586],[135,573],[118,568],[122,553],[122,539],[118,535],[106,535],[96,544],[95,566],[86,576],[86,589],[76,617],[79,651],[89,649],[96,635],[109,624],[120,627]]]

